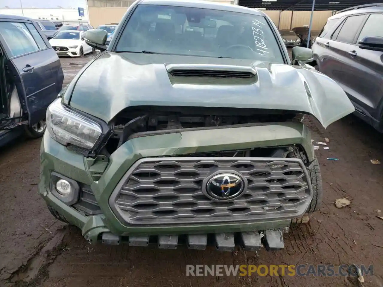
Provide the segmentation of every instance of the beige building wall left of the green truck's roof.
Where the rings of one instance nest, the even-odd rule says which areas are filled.
[[[89,7],[90,24],[96,28],[98,25],[118,23],[127,9],[126,7]]]

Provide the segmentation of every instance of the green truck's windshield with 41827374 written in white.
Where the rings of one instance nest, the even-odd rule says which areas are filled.
[[[263,16],[190,7],[138,5],[116,51],[283,63],[277,39]]]

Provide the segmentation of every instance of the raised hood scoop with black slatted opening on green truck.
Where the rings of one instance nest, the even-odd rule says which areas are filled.
[[[173,77],[194,77],[194,78],[241,78],[249,79],[256,75],[251,67],[234,65],[165,65],[167,71]]]

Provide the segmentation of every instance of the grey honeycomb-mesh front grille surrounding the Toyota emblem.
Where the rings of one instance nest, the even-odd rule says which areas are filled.
[[[218,170],[238,172],[246,191],[231,202],[207,197],[202,182]],[[304,214],[312,189],[303,162],[295,158],[143,158],[124,175],[110,206],[125,223],[254,222]]]

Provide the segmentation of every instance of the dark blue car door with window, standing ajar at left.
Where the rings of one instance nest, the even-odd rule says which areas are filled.
[[[23,111],[30,125],[45,118],[47,106],[61,91],[60,60],[32,21],[0,20],[0,41],[7,56]]]

